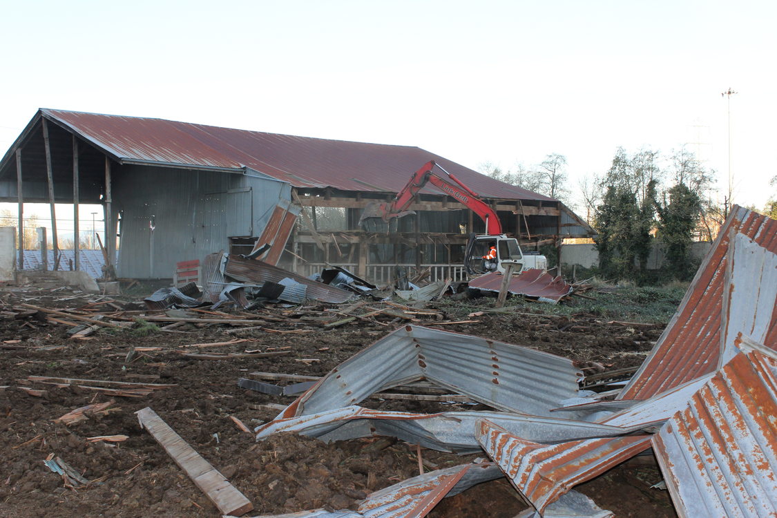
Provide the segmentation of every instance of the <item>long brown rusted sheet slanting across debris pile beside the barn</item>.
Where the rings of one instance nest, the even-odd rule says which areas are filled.
[[[315,301],[328,302],[329,304],[341,304],[350,301],[354,294],[327,284],[305,279],[296,273],[267,264],[267,262],[255,259],[243,259],[240,256],[230,255],[224,269],[227,276],[243,283],[261,284],[267,281],[280,283],[284,279],[292,279],[307,287],[308,298]]]

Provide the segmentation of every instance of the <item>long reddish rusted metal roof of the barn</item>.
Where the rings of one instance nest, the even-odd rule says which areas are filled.
[[[295,137],[45,108],[40,113],[124,163],[235,171],[247,166],[295,187],[396,193],[421,164],[434,160],[480,196],[552,201],[412,146]],[[441,193],[437,189],[429,192]]]

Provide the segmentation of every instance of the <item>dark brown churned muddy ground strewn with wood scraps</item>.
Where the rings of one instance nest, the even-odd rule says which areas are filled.
[[[186,324],[169,331],[100,331],[87,339],[68,339],[68,325],[47,321],[42,313],[19,315],[19,304],[45,308],[79,308],[98,300],[68,290],[35,287],[0,293],[5,320],[0,321],[0,516],[219,516],[218,510],[193,485],[162,447],[138,426],[134,412],[153,408],[169,426],[210,461],[253,502],[250,515],[290,513],[305,509],[355,508],[369,492],[418,475],[415,445],[395,440],[363,439],[325,444],[319,440],[280,434],[257,443],[241,431],[231,416],[249,428],[267,422],[277,410],[258,405],[287,405],[294,398],[263,395],[237,386],[239,377],[253,371],[323,375],[402,322],[380,319],[356,321],[334,329],[323,322],[336,320],[328,306],[270,307],[253,311],[251,318],[276,318],[267,328],[228,333],[232,325]],[[64,300],[63,300],[64,299]],[[105,299],[102,299],[103,301]],[[113,297],[124,313],[142,310],[125,305],[130,297]],[[134,297],[138,300],[138,297]],[[574,301],[573,301],[574,303]],[[632,367],[642,362],[663,325],[628,325],[610,322],[584,311],[572,317],[526,315],[521,311],[467,317],[491,300],[467,304],[441,304],[431,308],[446,320],[476,320],[437,329],[465,332],[532,346],[580,362],[587,372]],[[89,313],[88,311],[92,312]],[[97,306],[86,308],[85,315]],[[30,311],[32,313],[32,311]],[[15,315],[16,314],[16,315]],[[320,315],[316,319],[315,316]],[[240,315],[239,315],[240,316]],[[248,315],[242,315],[246,317]],[[278,320],[282,322],[278,322]],[[424,321],[424,322],[434,322]],[[418,322],[423,324],[424,322]],[[135,326],[138,328],[138,325]],[[293,332],[292,332],[293,331]],[[192,344],[249,339],[231,346],[195,347]],[[133,347],[160,347],[141,351],[127,361]],[[287,349],[284,349],[287,348]],[[287,356],[199,360],[176,352],[287,351]],[[301,361],[305,360],[305,361]],[[109,396],[74,385],[25,385],[29,376],[153,382],[175,386],[141,398]],[[19,386],[43,389],[30,395]],[[113,411],[92,415],[66,426],[54,422],[61,415],[90,403],[115,401]],[[372,408],[412,412],[471,409],[469,405],[369,400]],[[117,443],[90,442],[88,438],[123,434]],[[66,487],[63,478],[44,465],[51,454],[61,457],[91,483]],[[422,450],[427,471],[472,461]],[[485,457],[482,455],[481,457]],[[651,489],[660,471],[646,461],[622,464],[577,487],[603,509],[616,516],[676,516],[667,492]],[[506,479],[487,482],[444,499],[429,516],[511,518],[526,506]]]

